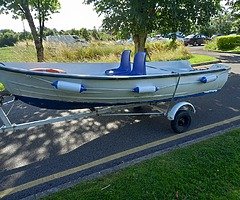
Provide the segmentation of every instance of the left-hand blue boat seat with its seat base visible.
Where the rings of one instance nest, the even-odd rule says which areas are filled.
[[[120,66],[116,69],[106,70],[105,74],[108,76],[129,75],[131,72],[130,54],[131,54],[131,50],[124,50],[121,55]]]

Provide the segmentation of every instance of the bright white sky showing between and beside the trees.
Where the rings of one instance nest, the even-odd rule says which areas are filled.
[[[102,24],[102,17],[93,10],[93,6],[83,4],[83,0],[59,0],[61,9],[59,13],[52,15],[52,19],[45,24],[48,28],[69,30],[72,28],[93,29],[99,28]],[[26,30],[30,31],[27,21],[24,21]],[[0,30],[12,29],[16,32],[23,31],[23,22],[12,19],[11,15],[0,15]]]

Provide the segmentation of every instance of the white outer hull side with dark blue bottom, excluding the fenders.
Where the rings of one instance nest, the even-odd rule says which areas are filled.
[[[226,83],[229,68],[213,67],[208,70],[139,76],[51,74],[6,67],[0,70],[0,82],[17,99],[42,108],[77,109],[167,101],[174,93],[175,98],[182,98],[215,92]],[[216,76],[216,80],[206,83],[200,81],[203,77],[211,76]],[[79,84],[85,90],[57,89],[53,86],[56,81]],[[136,92],[136,87],[143,92]],[[152,87],[156,90],[146,90]]]

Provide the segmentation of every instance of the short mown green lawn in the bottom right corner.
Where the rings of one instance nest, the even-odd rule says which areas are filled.
[[[240,199],[240,129],[175,150],[46,200]]]

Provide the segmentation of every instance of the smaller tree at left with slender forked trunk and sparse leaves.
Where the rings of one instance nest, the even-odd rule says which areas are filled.
[[[0,0],[0,13],[13,14],[14,18],[28,21],[33,36],[38,62],[44,61],[43,31],[45,21],[60,8],[58,0]],[[34,19],[38,20],[36,27]]]

